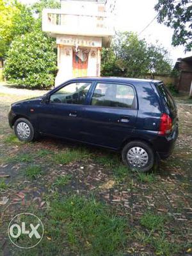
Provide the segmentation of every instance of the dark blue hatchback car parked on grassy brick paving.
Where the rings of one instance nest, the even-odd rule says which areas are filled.
[[[121,151],[131,169],[151,169],[172,153],[177,108],[162,81],[76,78],[40,98],[13,103],[10,126],[20,141],[49,135]]]

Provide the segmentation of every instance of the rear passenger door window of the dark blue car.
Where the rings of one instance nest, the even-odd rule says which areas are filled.
[[[135,108],[134,90],[129,85],[97,83],[92,105],[102,107]]]

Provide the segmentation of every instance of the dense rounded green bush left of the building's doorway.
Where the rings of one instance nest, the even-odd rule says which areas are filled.
[[[53,48],[53,40],[41,31],[16,37],[4,67],[6,80],[19,87],[50,88],[57,71]]]

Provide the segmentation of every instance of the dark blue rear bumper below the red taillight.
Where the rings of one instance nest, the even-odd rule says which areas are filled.
[[[158,135],[157,138],[153,141],[154,149],[159,154],[159,157],[161,159],[165,159],[172,154],[178,135],[179,129],[177,126],[177,128],[175,128],[171,135]]]

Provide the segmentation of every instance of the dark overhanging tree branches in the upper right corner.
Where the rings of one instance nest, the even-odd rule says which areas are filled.
[[[173,46],[182,45],[185,51],[192,49],[192,5],[191,0],[158,0],[155,10],[157,21],[173,28]]]

